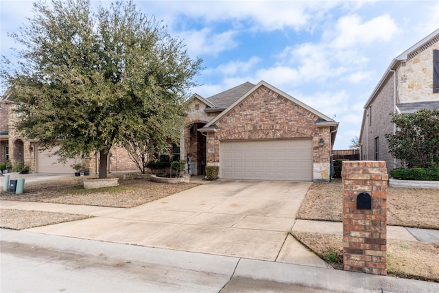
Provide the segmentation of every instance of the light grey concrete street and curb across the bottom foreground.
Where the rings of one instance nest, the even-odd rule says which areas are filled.
[[[143,290],[147,288],[151,292],[439,292],[439,283],[328,268],[115,244],[26,231],[0,229],[0,235],[3,255],[8,255],[9,250],[20,249],[29,255],[29,251],[32,250],[37,254],[37,258],[49,265],[61,263],[60,270],[67,270],[71,275],[67,280],[50,279],[49,282],[43,282],[47,280],[47,276],[40,272],[41,267],[35,268],[30,275],[26,274],[26,270],[14,274],[4,268],[2,263],[1,292],[10,292],[10,288],[20,292],[42,292],[43,289],[54,292],[59,288],[64,288],[66,292],[84,292],[91,289],[93,292],[117,292],[114,287],[108,290],[106,284],[109,282],[111,285],[114,280],[123,282],[125,290],[130,290],[132,283],[119,280],[128,268],[120,268],[119,273],[104,283],[96,283],[99,276],[93,276],[92,284],[76,279],[78,272],[84,277],[91,267],[105,266],[105,263],[107,266],[113,266],[115,263],[140,265],[143,274],[139,274],[135,281],[142,281],[145,286]],[[52,251],[54,254],[44,259],[45,251]],[[72,254],[77,256],[72,263],[63,258],[63,255]],[[93,266],[82,263],[88,259],[91,259]],[[70,272],[70,266],[81,270]],[[41,279],[36,283],[23,281],[39,277]],[[44,287],[47,285],[51,287]],[[87,287],[91,285],[93,287]],[[53,290],[50,290],[51,288]]]

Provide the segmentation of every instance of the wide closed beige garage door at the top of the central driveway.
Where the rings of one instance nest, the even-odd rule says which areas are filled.
[[[311,139],[222,141],[221,178],[313,180]]]

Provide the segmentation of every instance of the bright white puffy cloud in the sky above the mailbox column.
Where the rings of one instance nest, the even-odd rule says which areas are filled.
[[[363,23],[358,15],[343,16],[335,25],[335,38],[331,46],[346,48],[370,45],[375,41],[389,41],[396,32],[398,26],[389,14],[377,16]],[[333,38],[333,33],[329,36]]]

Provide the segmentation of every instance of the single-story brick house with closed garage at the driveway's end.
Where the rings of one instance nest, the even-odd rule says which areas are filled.
[[[188,104],[180,158],[191,174],[218,165],[219,178],[329,180],[338,122],[271,84],[195,94]]]

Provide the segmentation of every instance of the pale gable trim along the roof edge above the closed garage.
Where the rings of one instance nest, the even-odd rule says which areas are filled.
[[[247,83],[246,83],[247,84]],[[250,84],[250,82],[248,82],[248,84]],[[243,84],[241,84],[243,85]],[[276,89],[274,86],[272,86],[271,84],[268,84],[268,82],[264,82],[263,80],[261,80],[261,82],[259,82],[257,85],[253,86],[252,89],[250,89],[249,91],[247,91],[244,95],[242,95],[241,97],[239,97],[239,99],[237,99],[233,104],[231,104],[230,106],[228,106],[228,108],[226,108],[226,110],[224,110],[221,114],[219,114],[217,117],[215,117],[214,119],[212,119],[208,124],[206,124],[206,126],[204,126],[204,128],[202,128],[203,130],[205,130],[206,128],[209,128],[210,126],[213,126],[215,124],[216,121],[218,121],[219,119],[221,119],[224,115],[226,115],[228,112],[230,112],[230,110],[232,110],[233,108],[235,108],[235,106],[237,106],[239,103],[241,103],[244,99],[246,99],[246,97],[248,97],[249,95],[251,95],[254,91],[257,91],[257,89],[259,89],[259,87],[261,86],[265,86],[268,89],[270,89],[271,91],[274,91],[275,93],[278,93],[279,95],[282,95],[283,97],[289,99],[290,101],[292,101],[294,104],[297,104],[298,106],[301,106],[302,108],[305,108],[306,110],[308,110],[309,112],[313,113],[314,115],[316,115],[319,119],[317,119],[316,124],[317,125],[321,125],[321,126],[338,126],[338,122],[334,121],[333,119],[327,117],[326,115],[318,112],[318,110],[311,108],[310,106],[307,106],[306,104],[303,104],[302,102],[300,102],[298,99],[295,99],[294,97],[292,97],[291,95],[288,95],[287,93],[284,93],[283,91]],[[235,89],[235,88],[233,88]],[[223,92],[225,93],[225,92]]]

